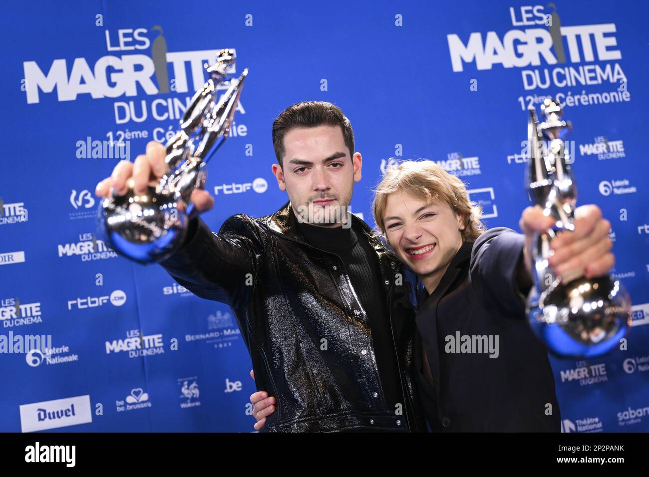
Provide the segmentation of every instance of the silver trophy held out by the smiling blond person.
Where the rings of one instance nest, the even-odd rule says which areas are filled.
[[[589,358],[618,346],[631,324],[629,295],[613,276],[572,279],[554,273],[548,264],[550,240],[574,230],[577,188],[564,139],[572,125],[562,119],[557,101],[541,105],[543,122],[530,108],[526,188],[556,225],[536,234],[532,253],[533,287],[527,300],[532,330],[557,356]]]

